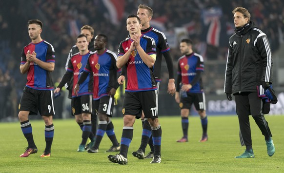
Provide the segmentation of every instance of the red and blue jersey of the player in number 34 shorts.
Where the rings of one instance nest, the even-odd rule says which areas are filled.
[[[77,97],[74,93],[74,87],[78,82],[81,74],[88,62],[88,57],[90,55],[90,51],[85,55],[80,55],[80,53],[74,54],[69,62],[67,70],[73,74],[73,88],[72,88],[72,97]],[[83,95],[92,95],[93,94],[93,78],[88,75],[86,80],[80,85],[80,90],[78,91],[78,96]]]

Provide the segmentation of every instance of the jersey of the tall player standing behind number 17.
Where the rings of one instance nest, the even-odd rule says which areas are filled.
[[[161,31],[153,27],[149,27],[145,30],[141,30],[141,33],[145,36],[154,38],[155,40],[156,47],[157,47],[157,50],[156,50],[157,57],[156,57],[156,61],[154,64],[154,74],[156,77],[156,81],[161,82],[162,80],[161,79],[162,54],[170,50],[169,44],[167,42],[167,38]]]

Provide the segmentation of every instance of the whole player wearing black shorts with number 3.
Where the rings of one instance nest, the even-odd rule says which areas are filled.
[[[93,105],[94,115],[99,116],[99,127],[96,134],[95,145],[90,147],[88,153],[98,153],[104,133],[112,141],[112,146],[106,152],[120,151],[120,144],[114,133],[114,126],[110,119],[113,114],[114,95],[119,84],[117,83],[116,54],[106,49],[107,36],[99,34],[95,37],[95,52],[91,53],[87,65],[75,87],[75,92],[80,89],[85,77],[93,75]],[[81,91],[81,90],[80,90]]]

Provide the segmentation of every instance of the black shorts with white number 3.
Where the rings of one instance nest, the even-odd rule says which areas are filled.
[[[98,115],[98,113],[105,114],[109,117],[113,115],[114,98],[111,96],[102,96],[98,100],[93,101],[94,111],[93,115]]]

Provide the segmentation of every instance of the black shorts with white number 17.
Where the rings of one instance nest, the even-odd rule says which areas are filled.
[[[158,118],[158,91],[125,92],[123,100],[123,115],[134,115],[140,118],[144,112],[145,118]]]

